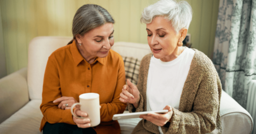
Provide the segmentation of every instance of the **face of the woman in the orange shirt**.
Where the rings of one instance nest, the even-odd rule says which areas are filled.
[[[77,42],[81,44],[78,47],[82,55],[85,58],[108,56],[109,49],[114,44],[113,32],[113,24],[106,23],[91,29],[84,36],[76,38]]]

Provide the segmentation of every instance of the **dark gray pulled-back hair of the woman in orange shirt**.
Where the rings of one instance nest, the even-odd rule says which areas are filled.
[[[83,36],[90,29],[102,26],[106,23],[115,24],[110,13],[102,6],[86,4],[81,6],[75,13],[72,25],[73,40],[77,34]],[[68,44],[73,42],[70,41]]]

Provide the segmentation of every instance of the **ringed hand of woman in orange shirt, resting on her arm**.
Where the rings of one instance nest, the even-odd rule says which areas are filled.
[[[77,103],[77,101],[75,100],[75,98],[73,97],[67,97],[67,96],[62,96],[61,98],[58,98],[56,100],[53,101],[53,103],[58,103],[60,102],[59,104],[59,108],[61,109],[70,109],[71,106],[74,104],[74,103]],[[66,103],[68,103],[68,107],[66,107]]]

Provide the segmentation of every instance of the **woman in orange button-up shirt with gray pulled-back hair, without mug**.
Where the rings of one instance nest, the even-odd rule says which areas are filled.
[[[54,51],[46,65],[40,106],[44,133],[120,133],[112,116],[126,107],[119,101],[125,70],[122,57],[110,49],[114,23],[99,5],[83,5],[75,13],[73,41]],[[75,115],[85,117],[80,119],[70,112],[83,93],[99,94],[101,123],[94,128],[87,113],[76,108]]]

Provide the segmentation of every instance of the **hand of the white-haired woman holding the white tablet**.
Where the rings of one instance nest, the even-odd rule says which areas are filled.
[[[167,105],[167,106],[165,106],[165,108],[163,108],[163,110],[168,110],[168,112],[166,114],[150,113],[147,115],[140,115],[139,117],[144,118],[145,120],[150,121],[150,122],[154,123],[155,125],[163,126],[173,116],[172,107]]]

